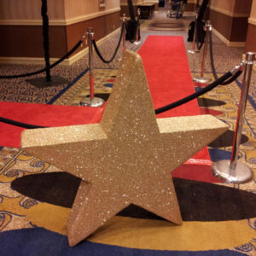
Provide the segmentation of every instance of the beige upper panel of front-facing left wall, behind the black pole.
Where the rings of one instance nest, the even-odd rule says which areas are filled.
[[[49,20],[64,19],[64,0],[48,1]],[[0,0],[0,20],[40,20],[41,0]]]

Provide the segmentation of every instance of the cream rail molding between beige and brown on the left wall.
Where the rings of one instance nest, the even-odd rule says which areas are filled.
[[[104,15],[110,15],[119,12],[120,8],[107,9],[100,12],[96,12],[90,15],[81,15],[78,17],[70,18],[67,20],[49,20],[49,26],[68,26],[75,23],[79,23],[84,20],[92,20]],[[0,20],[0,25],[7,26],[42,26],[42,20]]]

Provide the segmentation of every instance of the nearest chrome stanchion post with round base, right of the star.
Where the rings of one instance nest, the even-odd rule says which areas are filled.
[[[241,96],[237,112],[231,158],[230,160],[220,160],[212,166],[213,174],[216,177],[224,179],[227,183],[247,183],[253,179],[253,172],[250,167],[244,163],[238,162],[237,159],[254,60],[255,53],[247,52],[246,61],[244,61],[244,76],[241,85]]]

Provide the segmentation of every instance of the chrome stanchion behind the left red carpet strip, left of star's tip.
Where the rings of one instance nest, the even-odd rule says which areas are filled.
[[[104,104],[104,100],[102,98],[98,98],[94,96],[94,75],[93,75],[93,67],[92,67],[92,57],[93,57],[92,40],[94,39],[94,32],[92,32],[92,27],[87,28],[86,35],[87,35],[87,42],[89,47],[90,97],[85,97],[84,100],[80,102],[80,105],[88,106],[88,107],[100,107]]]

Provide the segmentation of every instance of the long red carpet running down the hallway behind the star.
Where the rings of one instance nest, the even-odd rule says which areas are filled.
[[[166,106],[195,92],[182,37],[149,36],[138,53],[143,58],[154,108]],[[198,114],[201,111],[195,99],[157,117]],[[211,163],[207,148],[195,154],[194,158]]]

